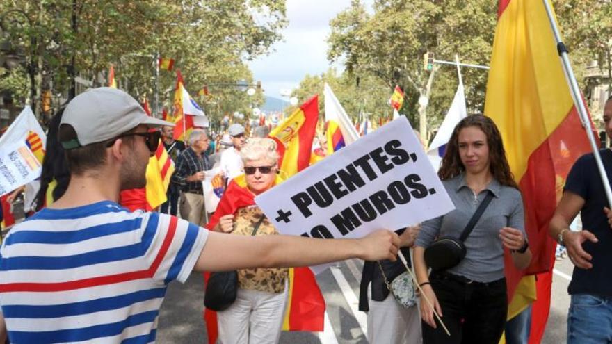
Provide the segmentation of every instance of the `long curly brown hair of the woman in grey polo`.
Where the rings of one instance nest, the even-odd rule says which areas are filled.
[[[440,171],[437,172],[438,177],[444,181],[456,177],[465,171],[465,166],[461,162],[459,156],[459,132],[461,129],[467,128],[468,126],[476,126],[487,136],[490,161],[489,168],[493,177],[497,179],[501,185],[518,189],[519,187],[514,181],[514,175],[512,171],[510,171],[508,159],[506,159],[506,151],[504,150],[504,142],[501,140],[501,134],[493,120],[483,115],[467,116],[455,126],[453,135],[448,145],[446,145],[446,153],[444,154],[444,158],[442,158],[442,166],[440,166]]]

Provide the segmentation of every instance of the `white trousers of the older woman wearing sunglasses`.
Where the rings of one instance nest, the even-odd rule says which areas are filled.
[[[282,293],[239,289],[236,301],[217,312],[220,344],[275,344],[280,338],[287,284]]]

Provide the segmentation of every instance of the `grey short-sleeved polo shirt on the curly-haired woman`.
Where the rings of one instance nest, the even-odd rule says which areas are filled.
[[[479,282],[496,281],[504,277],[504,249],[499,238],[502,227],[513,227],[525,233],[523,200],[519,190],[502,186],[493,179],[487,188],[474,195],[465,183],[464,174],[442,181],[455,210],[421,224],[415,245],[428,247],[438,236],[459,238],[465,225],[476,212],[488,192],[494,197],[476,226],[465,240],[467,254],[448,270]]]

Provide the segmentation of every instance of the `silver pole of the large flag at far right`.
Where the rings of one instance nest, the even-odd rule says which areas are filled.
[[[593,156],[595,156],[595,164],[597,165],[597,170],[599,170],[599,176],[602,178],[602,183],[604,184],[604,191],[608,199],[608,204],[609,206],[612,206],[612,190],[610,188],[610,182],[608,180],[606,170],[604,170],[602,156],[599,155],[599,147],[597,147],[597,142],[595,141],[595,136],[593,135],[593,130],[590,126],[590,120],[586,112],[584,101],[582,100],[582,94],[580,92],[580,89],[578,88],[576,76],[574,76],[574,70],[572,69],[572,65],[570,64],[570,58],[567,56],[567,48],[561,40],[561,33],[559,33],[559,30],[557,28],[556,20],[549,1],[542,1],[544,1],[544,7],[546,8],[548,21],[550,23],[550,27],[554,34],[555,42],[557,44],[557,51],[559,54],[559,58],[561,58],[561,65],[563,65],[563,71],[565,72],[565,79],[567,80],[567,85],[570,88],[572,99],[574,99],[574,105],[578,110],[578,115],[580,117],[580,121],[582,122],[582,127],[586,131],[586,136],[588,137],[588,141],[590,142],[590,147],[591,149],[593,149]]]

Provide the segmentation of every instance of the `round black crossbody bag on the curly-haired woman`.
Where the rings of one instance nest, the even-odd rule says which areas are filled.
[[[467,239],[467,236],[472,233],[472,229],[474,229],[476,222],[478,222],[485,212],[492,198],[493,194],[489,191],[481,205],[476,209],[474,215],[472,215],[472,218],[467,222],[465,229],[463,229],[458,239],[443,236],[435,240],[425,249],[425,263],[428,267],[433,271],[442,271],[453,268],[453,266],[458,265],[462,259],[465,258],[467,250],[463,242]]]

